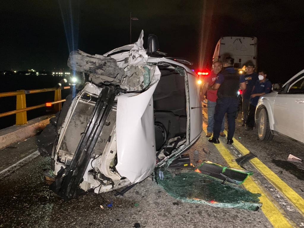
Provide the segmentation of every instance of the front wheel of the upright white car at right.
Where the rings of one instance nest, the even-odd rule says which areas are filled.
[[[257,134],[260,140],[272,140],[273,134],[269,127],[268,112],[265,108],[262,108],[259,112],[257,120]]]

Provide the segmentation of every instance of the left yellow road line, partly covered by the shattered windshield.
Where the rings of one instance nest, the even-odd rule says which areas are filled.
[[[207,132],[206,124],[204,123],[203,130],[205,131],[205,133]],[[242,169],[236,162],[231,161],[232,159],[234,159],[234,157],[221,143],[214,145],[230,167]],[[279,209],[274,205],[274,203],[271,202],[267,195],[265,195],[259,185],[257,185],[257,183],[253,181],[251,177],[248,177],[243,183],[243,185],[248,191],[261,194],[260,201],[263,204],[261,209],[264,215],[269,220],[269,222],[272,224],[272,226],[274,226],[275,228],[293,227],[285,218],[285,216],[279,211]]]

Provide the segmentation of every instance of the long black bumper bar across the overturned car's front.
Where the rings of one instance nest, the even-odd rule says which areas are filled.
[[[83,175],[93,155],[93,150],[98,137],[102,133],[106,118],[114,105],[116,89],[113,86],[105,86],[98,96],[94,112],[86,126],[85,133],[78,144],[70,166],[61,168],[50,185],[50,189],[64,199],[73,199],[77,196],[77,189],[83,181]]]

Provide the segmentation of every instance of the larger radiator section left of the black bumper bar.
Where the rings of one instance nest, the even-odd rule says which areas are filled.
[[[60,145],[60,150],[64,150],[70,154],[75,153],[78,144],[81,140],[82,134],[92,116],[95,102],[85,101],[80,99],[75,111],[67,125],[67,129]]]

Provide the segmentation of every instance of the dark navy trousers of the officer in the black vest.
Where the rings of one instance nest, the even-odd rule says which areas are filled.
[[[227,113],[228,121],[228,136],[227,139],[232,139],[235,131],[235,116],[237,114],[237,107],[239,100],[237,97],[222,97],[216,100],[216,107],[214,112],[213,138],[219,138],[219,132],[225,114]]]

